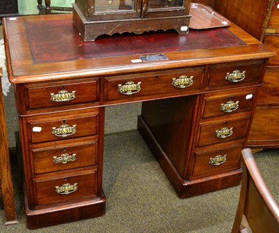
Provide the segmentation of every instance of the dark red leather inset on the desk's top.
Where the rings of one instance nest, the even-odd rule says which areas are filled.
[[[24,22],[24,27],[33,63],[246,45],[227,29],[191,30],[187,35],[174,31],[123,33],[84,43],[73,20],[30,21]]]

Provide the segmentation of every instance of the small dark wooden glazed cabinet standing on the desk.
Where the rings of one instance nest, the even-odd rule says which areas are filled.
[[[188,33],[190,0],[75,0],[73,22],[84,41],[103,34],[174,29]]]

